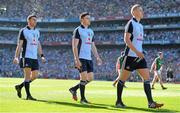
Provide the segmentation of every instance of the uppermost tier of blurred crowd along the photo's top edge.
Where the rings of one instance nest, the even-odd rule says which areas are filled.
[[[142,5],[146,15],[180,12],[179,0],[0,0],[0,17],[26,18],[36,13],[40,18],[78,18],[81,12],[93,17],[129,16],[132,5]]]

